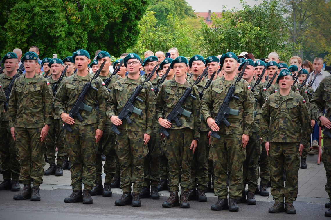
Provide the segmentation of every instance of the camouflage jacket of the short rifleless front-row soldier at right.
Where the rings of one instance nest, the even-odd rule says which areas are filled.
[[[298,126],[300,125],[300,126]],[[260,137],[262,142],[308,144],[310,113],[304,98],[296,92],[270,95],[261,108]]]

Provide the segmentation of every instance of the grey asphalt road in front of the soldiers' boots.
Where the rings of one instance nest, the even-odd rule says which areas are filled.
[[[120,194],[113,194],[112,197],[94,196],[91,205],[64,203],[64,198],[71,192],[68,189],[41,190],[41,201],[31,202],[30,200],[13,200],[17,192],[0,191],[0,219],[331,219],[324,217],[324,212],[327,210],[324,205],[307,202],[295,202],[297,214],[288,215],[268,213],[268,208],[273,205],[273,202],[257,202],[256,205],[238,204],[239,212],[212,211],[210,207],[216,202],[216,197],[208,198],[207,203],[190,201],[191,208],[189,209],[163,208],[162,203],[167,197],[161,197],[160,200],[141,199],[141,207],[116,206],[114,203],[120,198]]]

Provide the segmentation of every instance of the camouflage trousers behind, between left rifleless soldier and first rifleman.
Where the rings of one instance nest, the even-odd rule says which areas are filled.
[[[55,148],[58,147],[58,155],[56,162],[58,166],[63,165],[63,161],[66,158],[66,149],[64,141],[64,132],[62,130],[63,121],[61,119],[54,119],[51,127],[49,128],[45,147],[47,148],[46,155],[48,163],[55,163]]]

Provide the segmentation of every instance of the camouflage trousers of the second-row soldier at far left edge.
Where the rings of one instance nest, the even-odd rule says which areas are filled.
[[[20,155],[10,133],[8,121],[1,123],[0,140],[2,177],[5,180],[19,181],[21,170]]]

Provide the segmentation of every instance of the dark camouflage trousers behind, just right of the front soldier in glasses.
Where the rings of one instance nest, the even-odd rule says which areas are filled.
[[[160,181],[161,136],[160,128],[154,128],[148,142],[148,154],[144,158],[144,186],[158,186]]]

